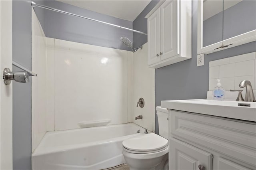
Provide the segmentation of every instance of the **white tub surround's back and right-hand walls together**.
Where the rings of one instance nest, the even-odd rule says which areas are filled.
[[[147,43],[132,53],[52,38],[46,42],[47,131],[102,119],[111,119],[109,125],[134,122],[154,131],[154,70],[146,65]],[[144,108],[136,107],[140,97]],[[138,115],[143,119],[135,121]]]

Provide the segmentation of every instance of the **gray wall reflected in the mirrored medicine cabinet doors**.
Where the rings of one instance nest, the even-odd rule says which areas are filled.
[[[222,8],[222,6],[220,7]],[[226,9],[223,14],[224,40],[256,29],[256,1],[243,0]],[[222,12],[205,20],[204,46],[222,41]]]

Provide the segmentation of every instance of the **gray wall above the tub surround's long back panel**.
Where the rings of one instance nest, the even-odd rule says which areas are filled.
[[[42,4],[41,2],[38,3]],[[48,0],[45,1],[45,5],[118,26],[132,28],[132,22],[130,21],[99,14],[62,2]],[[35,8],[36,14],[41,25],[44,25],[46,37],[131,51],[131,48],[126,47],[120,41],[122,36],[132,41],[132,32],[130,31],[50,10],[45,10],[45,21],[42,21],[44,19],[42,17],[43,14],[38,12],[37,8]]]

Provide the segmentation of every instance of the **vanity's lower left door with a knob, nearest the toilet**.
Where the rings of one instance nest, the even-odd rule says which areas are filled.
[[[212,154],[175,138],[169,142],[170,170],[199,170],[199,165],[204,166],[204,170],[212,169]]]

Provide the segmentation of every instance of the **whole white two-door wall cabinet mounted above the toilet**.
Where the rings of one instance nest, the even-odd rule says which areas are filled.
[[[191,1],[160,1],[148,18],[148,66],[160,68],[191,58]]]

